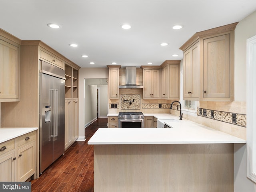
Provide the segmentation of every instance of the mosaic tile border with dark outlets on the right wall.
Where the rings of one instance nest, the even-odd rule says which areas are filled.
[[[246,127],[246,115],[245,114],[236,114],[236,113],[231,113],[231,112],[197,108],[197,115],[206,117],[206,118],[211,118],[213,120],[218,120],[218,121]]]

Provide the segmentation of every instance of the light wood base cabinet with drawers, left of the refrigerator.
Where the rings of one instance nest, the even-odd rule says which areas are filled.
[[[24,182],[35,175],[35,131],[0,144],[0,170],[1,182]]]

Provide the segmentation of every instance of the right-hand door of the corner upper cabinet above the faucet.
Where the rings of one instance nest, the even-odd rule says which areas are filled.
[[[180,98],[180,67],[179,65],[169,66],[169,98]]]

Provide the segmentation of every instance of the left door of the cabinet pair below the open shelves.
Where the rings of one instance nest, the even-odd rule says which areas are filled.
[[[65,149],[68,148],[71,141],[72,127],[72,100],[65,100]]]

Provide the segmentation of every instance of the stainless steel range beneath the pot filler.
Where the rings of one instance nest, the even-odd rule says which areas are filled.
[[[143,128],[144,114],[142,112],[119,112],[119,128]]]

